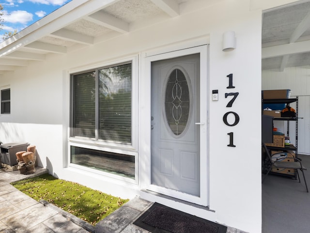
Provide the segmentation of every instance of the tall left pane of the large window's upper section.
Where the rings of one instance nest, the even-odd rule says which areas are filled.
[[[95,137],[95,71],[73,76],[71,136]]]

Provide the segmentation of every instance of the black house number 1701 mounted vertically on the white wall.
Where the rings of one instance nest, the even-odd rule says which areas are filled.
[[[229,78],[229,85],[226,87],[227,89],[231,89],[231,88],[235,88],[233,86],[233,74],[229,74],[226,76],[227,78]],[[228,98],[230,96],[232,96],[233,98],[227,103],[226,107],[227,108],[231,108],[233,106],[233,102],[237,99],[237,96],[239,95],[239,92],[231,92],[231,93],[225,93],[225,98]],[[233,123],[229,123],[227,120],[227,117],[229,115],[233,115],[234,116],[234,122]],[[224,114],[223,116],[223,121],[225,123],[225,125],[228,126],[235,126],[239,123],[240,117],[237,113],[235,112],[227,112]],[[233,132],[231,133],[227,133],[229,135],[229,144],[227,145],[228,147],[236,147],[235,145],[233,145]]]

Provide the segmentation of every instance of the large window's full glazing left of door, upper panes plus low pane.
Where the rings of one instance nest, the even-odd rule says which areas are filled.
[[[132,64],[130,61],[71,75],[72,166],[135,179]]]

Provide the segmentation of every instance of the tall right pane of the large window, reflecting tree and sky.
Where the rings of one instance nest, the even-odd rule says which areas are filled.
[[[99,134],[131,144],[131,63],[99,70]]]

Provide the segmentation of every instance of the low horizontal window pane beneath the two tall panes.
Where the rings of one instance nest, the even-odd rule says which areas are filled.
[[[135,179],[135,156],[71,146],[71,163]]]

